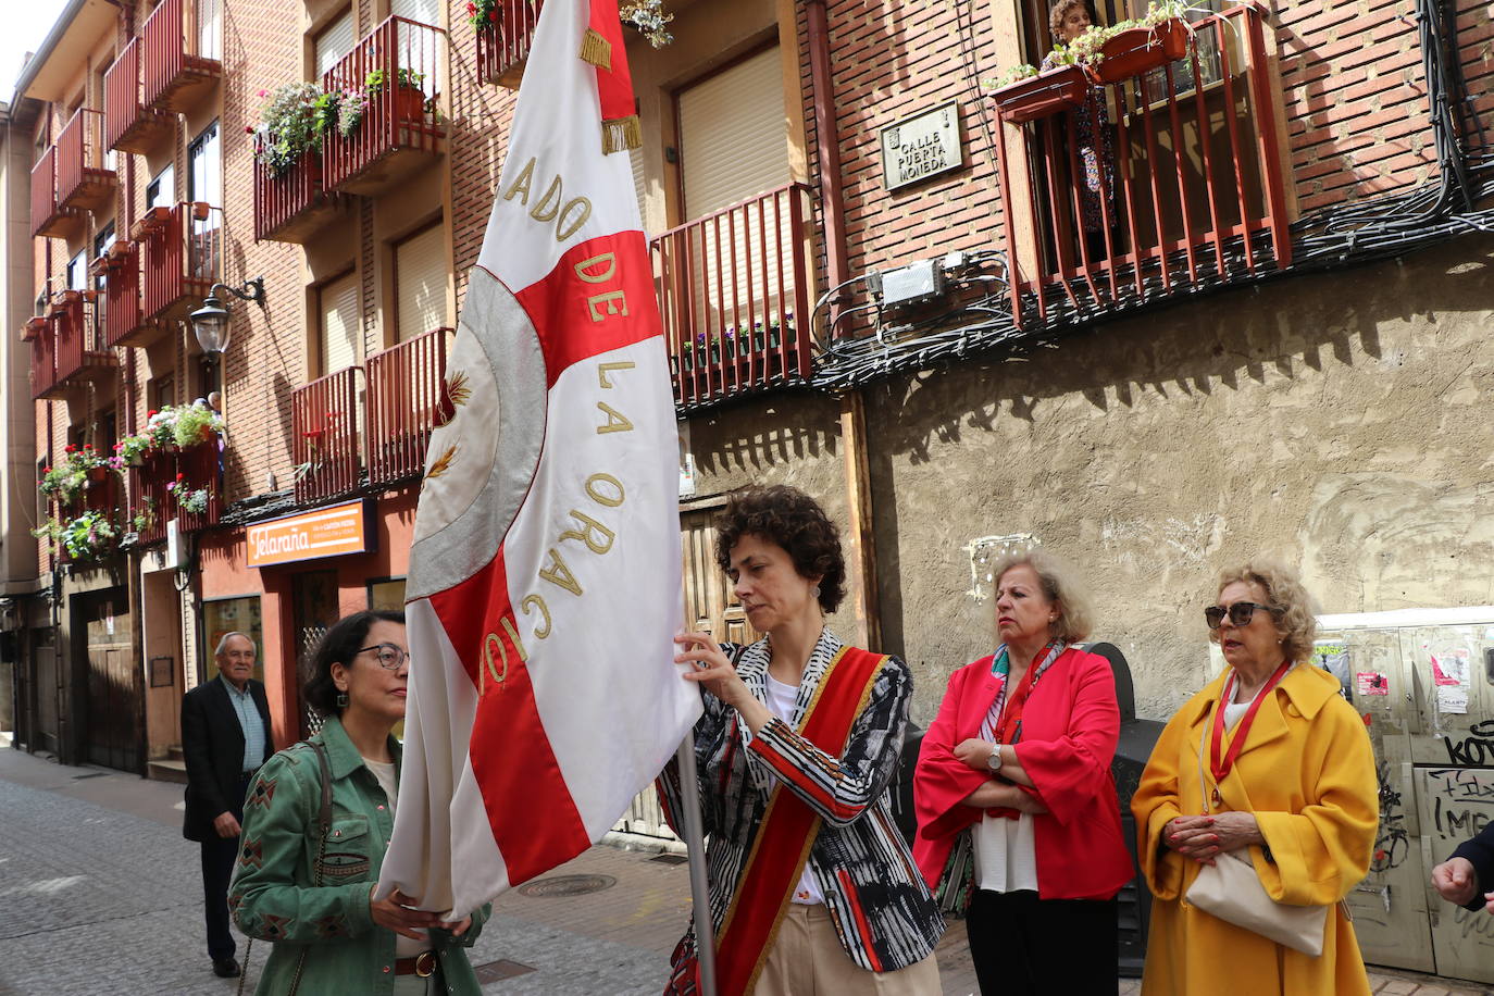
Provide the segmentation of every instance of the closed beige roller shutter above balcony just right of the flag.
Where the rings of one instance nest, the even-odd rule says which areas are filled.
[[[792,179],[777,46],[680,94],[680,155],[686,218]]]

